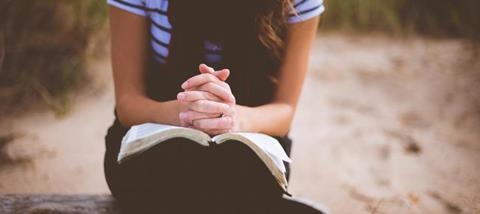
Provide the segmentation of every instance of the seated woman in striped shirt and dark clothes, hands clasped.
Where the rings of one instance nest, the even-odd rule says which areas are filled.
[[[288,131],[321,0],[109,0],[115,122],[105,174],[131,212],[319,213],[282,198],[239,143],[208,149],[172,139],[117,164],[128,127],[154,122],[262,132],[289,154]]]

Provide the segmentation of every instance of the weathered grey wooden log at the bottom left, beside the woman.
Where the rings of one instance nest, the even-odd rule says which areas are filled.
[[[110,195],[0,194],[0,213],[118,214]]]

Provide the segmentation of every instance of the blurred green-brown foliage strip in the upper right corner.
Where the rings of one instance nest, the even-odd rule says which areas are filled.
[[[480,41],[479,0],[325,0],[326,29]]]

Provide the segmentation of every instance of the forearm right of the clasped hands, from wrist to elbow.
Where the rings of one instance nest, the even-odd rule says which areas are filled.
[[[270,103],[257,107],[237,105],[241,131],[284,136],[290,130],[294,108],[287,103]]]

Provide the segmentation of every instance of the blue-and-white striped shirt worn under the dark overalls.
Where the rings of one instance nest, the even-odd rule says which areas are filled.
[[[168,47],[171,41],[172,26],[168,21],[167,8],[169,0],[108,0],[108,4],[130,13],[145,16],[150,19],[150,45],[155,53],[155,59],[165,63],[168,57]],[[295,11],[289,14],[288,22],[297,23],[320,15],[325,7],[323,0],[294,0]],[[204,41],[205,59],[207,63],[222,60],[222,47],[212,41]]]

